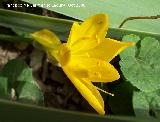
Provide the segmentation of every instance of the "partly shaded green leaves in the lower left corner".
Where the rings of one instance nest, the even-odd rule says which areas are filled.
[[[9,61],[0,73],[1,94],[9,98],[12,89],[19,101],[43,103],[43,93],[33,80],[32,70],[22,60]]]

